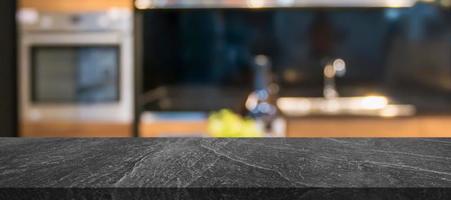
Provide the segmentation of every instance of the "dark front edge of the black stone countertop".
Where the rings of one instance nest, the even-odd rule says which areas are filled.
[[[448,200],[447,188],[10,188],[1,199]]]

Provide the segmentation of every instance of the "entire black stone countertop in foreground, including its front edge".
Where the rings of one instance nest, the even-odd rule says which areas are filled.
[[[0,199],[449,200],[451,139],[7,138]]]

